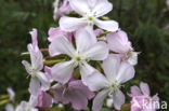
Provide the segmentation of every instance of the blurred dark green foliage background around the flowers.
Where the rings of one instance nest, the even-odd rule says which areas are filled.
[[[166,0],[110,0],[114,10],[108,17],[119,22],[128,32],[135,51],[141,52],[131,85],[147,82],[152,95],[158,93],[169,102],[169,10]],[[0,95],[6,87],[16,92],[16,103],[28,99],[27,73],[22,66],[21,53],[30,43],[29,31],[38,29],[40,47],[47,47],[48,29],[57,27],[53,20],[53,0],[0,0]],[[129,97],[128,97],[129,102]],[[0,108],[0,111],[2,109]],[[166,110],[167,111],[167,110]]]

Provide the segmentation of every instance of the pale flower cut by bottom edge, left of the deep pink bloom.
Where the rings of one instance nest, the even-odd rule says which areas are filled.
[[[35,96],[30,96],[29,101],[22,101],[17,107],[15,111],[38,111],[37,108],[35,108],[37,105],[37,98]]]

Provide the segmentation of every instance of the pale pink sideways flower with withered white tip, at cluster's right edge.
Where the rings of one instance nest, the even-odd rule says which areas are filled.
[[[110,51],[119,54],[122,60],[127,60],[130,65],[138,64],[138,52],[134,52],[131,42],[125,31],[118,30],[106,36]]]

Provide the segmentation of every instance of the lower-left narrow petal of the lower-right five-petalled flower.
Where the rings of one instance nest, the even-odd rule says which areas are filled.
[[[106,89],[103,89],[95,96],[93,100],[93,107],[92,107],[93,111],[101,111],[104,99],[106,98],[108,92]]]

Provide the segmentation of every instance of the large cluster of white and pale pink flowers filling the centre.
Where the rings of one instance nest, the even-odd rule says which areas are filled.
[[[134,78],[139,53],[117,22],[104,19],[112,10],[108,0],[55,0],[53,17],[60,27],[49,29],[48,56],[38,46],[37,29],[30,31],[30,63],[22,61],[30,77],[30,100],[21,102],[16,111],[37,111],[58,102],[82,110],[92,98],[92,111],[101,111],[106,98],[113,101],[109,107],[121,109],[120,88]],[[131,105],[151,99],[145,84],[141,89],[143,96],[132,87]]]

